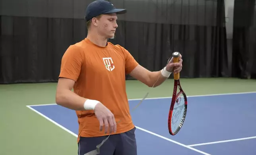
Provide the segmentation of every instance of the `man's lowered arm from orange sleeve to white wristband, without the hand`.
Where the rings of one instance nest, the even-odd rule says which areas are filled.
[[[72,92],[80,75],[82,58],[80,48],[75,45],[70,46],[64,53],[55,100],[56,104],[72,110],[93,110],[99,101],[88,100]]]

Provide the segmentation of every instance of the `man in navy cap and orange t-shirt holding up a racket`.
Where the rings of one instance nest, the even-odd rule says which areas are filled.
[[[105,0],[89,4],[85,15],[87,38],[71,45],[62,57],[56,103],[76,110],[79,155],[96,149],[109,134],[112,135],[100,147],[101,154],[136,155],[135,126],[129,112],[125,75],[157,87],[171,72],[180,72],[182,68],[180,55],[178,63],[171,59],[163,70],[150,72],[126,49],[107,42],[114,37],[118,27],[116,15],[121,13],[126,10],[116,9]]]

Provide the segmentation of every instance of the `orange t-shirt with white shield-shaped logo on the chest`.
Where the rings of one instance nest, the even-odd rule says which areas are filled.
[[[138,62],[120,45],[108,42],[100,47],[85,38],[68,47],[62,57],[60,76],[73,79],[74,93],[81,97],[98,100],[115,117],[116,133],[134,128],[126,95],[125,75],[129,74]],[[79,137],[107,135],[99,130],[99,121],[93,110],[76,111],[79,124]]]

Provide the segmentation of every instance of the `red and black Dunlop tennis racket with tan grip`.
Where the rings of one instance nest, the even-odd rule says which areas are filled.
[[[173,62],[179,61],[179,52],[173,53]],[[179,132],[184,124],[187,112],[187,97],[180,86],[180,74],[174,73],[173,98],[168,117],[168,129],[171,135]],[[179,90],[178,90],[179,89]]]

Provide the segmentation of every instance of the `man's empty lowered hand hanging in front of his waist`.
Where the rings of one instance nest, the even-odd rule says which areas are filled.
[[[116,121],[114,119],[114,115],[106,106],[99,102],[94,108],[94,113],[99,120],[100,131],[102,131],[104,125],[105,134],[107,134],[108,129],[110,133],[116,132]]]

